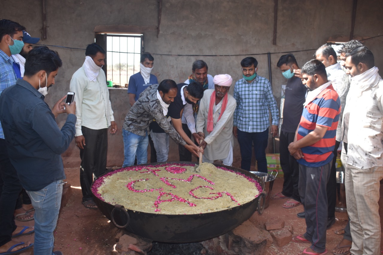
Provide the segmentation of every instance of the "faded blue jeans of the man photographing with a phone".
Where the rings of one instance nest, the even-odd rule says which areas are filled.
[[[57,180],[39,191],[26,191],[34,208],[33,254],[53,254],[53,231],[61,206],[62,180]]]

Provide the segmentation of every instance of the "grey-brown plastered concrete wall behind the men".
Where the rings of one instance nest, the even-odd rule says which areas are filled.
[[[381,0],[358,1],[354,38],[362,39],[382,34],[382,9]],[[278,1],[277,45],[272,44],[274,4],[270,0],[162,0],[158,38],[157,10],[157,0],[46,1],[48,38],[40,43],[85,49],[87,44],[94,41],[94,31],[100,31],[97,30],[100,27],[108,28],[108,32],[141,31],[144,33],[145,51],[151,52],[155,57],[153,73],[159,81],[171,78],[176,82],[183,82],[190,75],[191,64],[196,59],[207,62],[211,75],[227,73],[232,75],[234,80],[238,80],[242,75],[239,63],[248,55],[257,58],[258,74],[268,78],[265,53],[272,52],[273,93],[279,103],[280,86],[286,83],[276,67],[279,57],[285,54],[283,52],[294,52],[301,66],[312,59],[314,49],[326,43],[329,38],[348,39],[352,1]],[[43,21],[40,1],[36,4],[25,0],[1,0],[0,18],[17,21],[26,26],[32,36],[41,37]],[[95,30],[96,26],[98,28]],[[124,29],[126,30],[123,31]],[[374,53],[376,66],[382,69],[383,37],[368,39],[365,44]],[[46,97],[49,105],[53,105],[69,90],[70,78],[82,65],[85,56],[83,50],[51,48],[59,52],[64,64],[59,70],[56,85],[49,89]],[[231,93],[233,87],[234,84]],[[110,99],[120,130],[118,134],[109,136],[108,165],[121,165],[121,126],[129,110],[126,90],[110,90]],[[59,126],[62,126],[65,118],[59,116]],[[269,144],[272,145],[271,141],[270,138]],[[272,152],[272,146],[269,146],[268,152]],[[240,158],[237,142],[234,157]],[[79,150],[74,142],[63,154],[63,158],[65,167],[79,165]],[[177,146],[174,142],[171,143],[169,160],[178,160]]]

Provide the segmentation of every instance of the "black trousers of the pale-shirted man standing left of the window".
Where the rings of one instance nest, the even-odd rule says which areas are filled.
[[[106,172],[106,155],[108,149],[108,129],[90,129],[81,127],[85,137],[84,149],[80,149],[80,185],[82,201],[92,200],[90,185]]]

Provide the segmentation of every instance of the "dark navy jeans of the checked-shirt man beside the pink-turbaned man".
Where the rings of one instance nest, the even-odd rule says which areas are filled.
[[[241,150],[241,168],[250,171],[252,145],[254,143],[255,160],[258,172],[267,173],[266,148],[268,143],[268,128],[263,132],[244,132],[238,129],[237,138]]]

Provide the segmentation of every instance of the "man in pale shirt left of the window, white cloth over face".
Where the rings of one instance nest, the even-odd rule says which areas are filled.
[[[80,148],[82,203],[89,209],[97,209],[90,185],[93,176],[97,178],[106,170],[108,127],[111,134],[117,131],[105,73],[101,70],[105,54],[98,44],[89,44],[84,64],[70,80],[70,91],[75,92],[77,102],[75,141]]]

